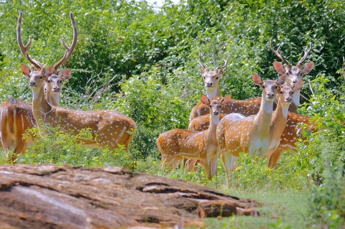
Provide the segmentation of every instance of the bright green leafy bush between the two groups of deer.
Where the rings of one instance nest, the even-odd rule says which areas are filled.
[[[177,96],[178,89],[164,86],[157,79],[157,73],[158,69],[153,69],[122,83],[121,94],[117,94],[113,105],[120,112],[135,117],[138,128],[131,150],[139,157],[155,155],[160,133],[188,126],[188,100]]]

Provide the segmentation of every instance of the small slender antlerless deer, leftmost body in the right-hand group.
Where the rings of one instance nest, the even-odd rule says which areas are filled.
[[[219,148],[216,139],[216,128],[219,122],[221,107],[226,105],[230,96],[221,101],[212,102],[206,95],[201,95],[201,102],[209,107],[210,125],[202,132],[185,129],[172,129],[157,138],[157,147],[162,155],[160,166],[176,168],[183,158],[198,159],[203,162],[206,175],[211,179],[217,173]]]

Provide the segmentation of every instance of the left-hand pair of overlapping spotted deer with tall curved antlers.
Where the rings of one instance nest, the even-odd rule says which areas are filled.
[[[124,145],[128,150],[136,124],[128,116],[117,111],[75,111],[59,107],[61,83],[71,76],[72,71],[59,67],[72,55],[78,38],[77,26],[70,13],[73,27],[73,41],[68,46],[63,39],[61,43],[66,51],[54,65],[47,67],[34,60],[28,54],[31,37],[26,45],[21,40],[21,19],[19,13],[17,24],[17,41],[22,55],[31,63],[30,67],[22,64],[21,71],[29,79],[32,90],[32,104],[19,99],[9,99],[0,105],[0,136],[5,151],[14,149],[14,160],[19,153],[25,153],[32,139],[23,139],[27,129],[37,126],[60,126],[66,131],[77,135],[82,129],[89,129],[92,139],[79,139],[84,146],[90,148],[108,147],[110,150]],[[43,131],[43,134],[44,131]]]

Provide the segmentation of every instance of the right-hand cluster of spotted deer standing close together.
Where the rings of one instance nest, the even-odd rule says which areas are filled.
[[[221,155],[228,184],[228,174],[236,169],[237,157],[245,153],[268,159],[273,168],[280,155],[290,150],[297,152],[296,141],[300,137],[298,123],[315,131],[310,118],[296,113],[299,106],[302,76],[314,68],[314,62],[302,65],[311,53],[312,44],[304,50],[303,57],[293,66],[284,58],[280,49],[270,50],[285,63],[273,62],[280,74],[277,80],[263,80],[253,74],[253,81],[262,89],[262,96],[236,100],[231,95],[221,97],[219,80],[229,61],[209,70],[199,53],[199,67],[204,79],[206,95],[193,107],[188,130],[173,129],[161,134],[157,147],[162,155],[161,166],[176,168],[185,159],[185,169],[192,170],[197,162],[204,168],[208,179],[217,175],[218,156]]]

